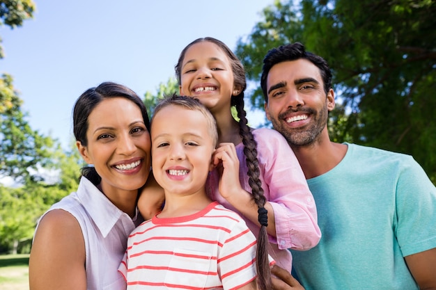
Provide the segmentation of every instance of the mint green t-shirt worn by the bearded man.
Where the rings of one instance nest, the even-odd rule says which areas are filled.
[[[306,290],[419,289],[404,257],[436,248],[436,188],[412,156],[348,144],[312,179],[322,237],[293,254]]]

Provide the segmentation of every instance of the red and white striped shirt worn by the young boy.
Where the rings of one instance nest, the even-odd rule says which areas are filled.
[[[134,229],[118,271],[127,289],[238,289],[256,279],[256,238],[217,202]]]

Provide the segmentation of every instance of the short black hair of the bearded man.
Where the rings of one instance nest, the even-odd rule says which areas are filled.
[[[324,91],[327,94],[332,88],[332,71],[330,70],[327,61],[321,56],[312,54],[306,51],[304,45],[299,42],[295,42],[289,45],[281,45],[277,48],[270,49],[267,52],[265,58],[263,58],[262,76],[260,76],[260,88],[262,88],[263,97],[265,102],[268,103],[267,94],[267,76],[271,68],[277,63],[283,63],[283,61],[297,61],[297,59],[306,59],[316,65],[320,70],[322,81],[324,82]]]

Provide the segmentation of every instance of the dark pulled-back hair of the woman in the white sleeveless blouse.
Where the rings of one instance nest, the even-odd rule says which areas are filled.
[[[133,90],[130,90],[130,88],[108,81],[100,83],[100,85],[95,88],[89,88],[81,94],[72,110],[73,132],[76,140],[79,141],[82,146],[88,146],[86,132],[88,131],[89,115],[94,110],[95,106],[100,104],[104,99],[113,97],[124,97],[134,102],[141,110],[143,122],[148,131],[150,131],[150,120],[148,119],[146,106],[143,104],[141,98]],[[88,178],[95,185],[101,182],[100,175],[98,175],[97,171],[95,171],[95,168],[92,166],[81,168],[81,175]]]

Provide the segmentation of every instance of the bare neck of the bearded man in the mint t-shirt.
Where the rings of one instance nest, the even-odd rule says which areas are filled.
[[[345,156],[347,145],[330,141],[327,127],[320,137],[305,146],[292,146],[306,179],[323,175],[332,170]]]

